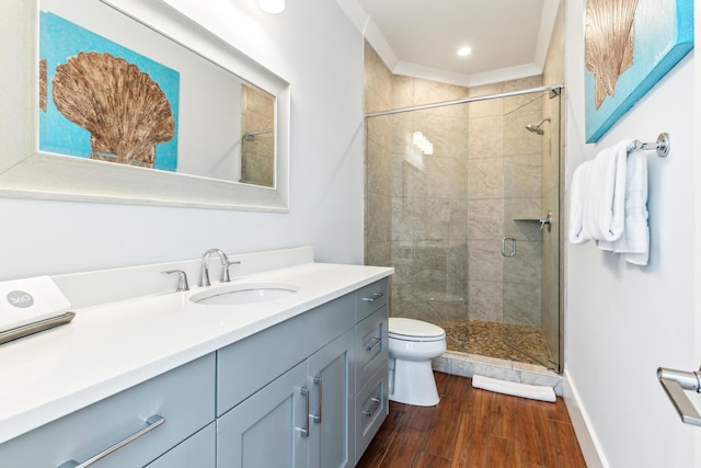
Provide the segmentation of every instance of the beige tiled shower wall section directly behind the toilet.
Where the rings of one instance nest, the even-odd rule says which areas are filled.
[[[466,98],[462,87],[393,77],[392,107]],[[392,117],[392,308],[439,323],[467,319],[468,113],[466,105]],[[434,145],[413,145],[422,132]]]

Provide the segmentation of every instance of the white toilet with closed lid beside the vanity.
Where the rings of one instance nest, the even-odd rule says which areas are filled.
[[[432,359],[446,351],[446,332],[433,323],[390,317],[390,400],[418,407],[438,404],[440,397]]]

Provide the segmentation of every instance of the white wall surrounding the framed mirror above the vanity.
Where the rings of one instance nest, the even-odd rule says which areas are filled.
[[[245,0],[169,0],[291,83],[287,214],[0,198],[0,281],[313,246],[363,261],[363,37],[327,0],[279,15]],[[319,19],[323,19],[320,21]]]

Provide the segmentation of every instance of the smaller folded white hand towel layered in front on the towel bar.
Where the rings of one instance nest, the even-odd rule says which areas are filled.
[[[616,241],[623,232],[630,141],[604,149],[594,159],[583,216],[584,230],[594,240]]]

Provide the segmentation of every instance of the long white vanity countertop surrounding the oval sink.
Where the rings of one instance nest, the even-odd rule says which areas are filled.
[[[389,267],[304,263],[234,278],[296,294],[204,306],[166,293],[76,309],[71,323],[0,345],[0,443],[389,276]],[[214,283],[210,288],[216,288]]]

